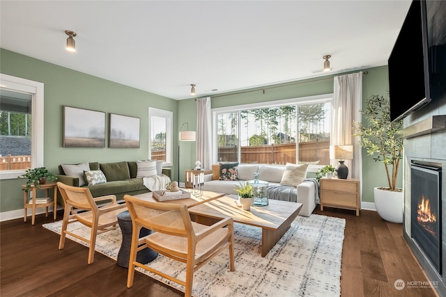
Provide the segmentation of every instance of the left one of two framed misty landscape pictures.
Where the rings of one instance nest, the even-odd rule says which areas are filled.
[[[63,147],[105,147],[105,113],[63,106]]]

